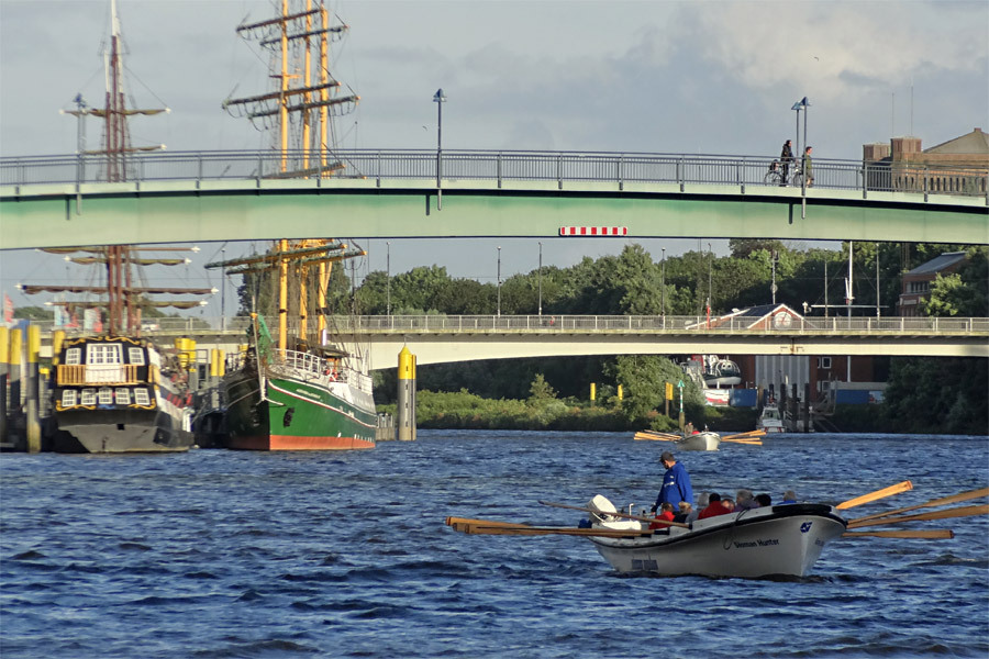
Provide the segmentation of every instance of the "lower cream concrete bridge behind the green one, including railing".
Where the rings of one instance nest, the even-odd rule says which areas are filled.
[[[751,320],[748,321],[751,323]],[[587,355],[891,355],[989,357],[989,319],[804,317],[788,327],[752,328],[743,319],[712,326],[704,316],[389,315],[334,316],[347,345],[368,350],[373,369],[395,368],[407,346],[419,365]],[[268,319],[277,327],[277,319]],[[249,320],[214,327],[197,319],[158,319],[145,335],[227,354],[247,343]],[[51,325],[43,325],[43,356]],[[291,327],[290,327],[291,331]]]

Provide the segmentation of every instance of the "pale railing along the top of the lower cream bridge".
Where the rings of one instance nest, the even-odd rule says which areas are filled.
[[[266,319],[276,331],[278,319]],[[65,330],[70,335],[92,334],[82,328],[55,327],[51,321],[40,322],[42,332]],[[178,336],[224,335],[247,343],[251,321],[246,317],[203,320],[198,317],[155,319],[143,324],[142,334],[167,340]],[[890,334],[989,335],[989,317],[925,316],[805,316],[788,320],[725,316],[673,315],[370,315],[331,316],[329,326],[336,334],[457,334],[457,333],[688,333],[688,334]],[[310,324],[310,330],[313,326]],[[289,326],[296,334],[298,327]]]

